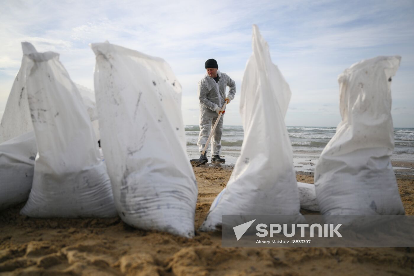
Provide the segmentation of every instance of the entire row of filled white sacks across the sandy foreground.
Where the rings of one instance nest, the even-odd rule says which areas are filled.
[[[22,47],[0,125],[0,209],[28,199],[24,215],[118,213],[137,228],[192,237],[197,182],[186,154],[181,86],[170,66],[113,44],[91,44],[95,108],[93,92],[70,80],[57,53]],[[313,185],[296,182],[284,124],[291,92],[255,25],[252,47],[240,93],[241,156],[200,230],[215,230],[221,215],[300,215],[300,208],[404,214],[390,164],[390,84],[400,57],[364,60],[339,76],[342,122]]]

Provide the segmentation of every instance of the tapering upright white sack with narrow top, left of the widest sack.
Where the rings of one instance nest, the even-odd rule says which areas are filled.
[[[32,217],[116,215],[111,183],[81,96],[53,52],[24,55],[26,90],[38,155],[29,200]]]

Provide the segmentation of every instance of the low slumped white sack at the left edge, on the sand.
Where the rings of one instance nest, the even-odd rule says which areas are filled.
[[[0,144],[0,210],[29,197],[36,153],[33,131]]]

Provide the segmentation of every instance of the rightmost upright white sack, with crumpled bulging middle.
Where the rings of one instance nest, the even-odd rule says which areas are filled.
[[[339,75],[342,121],[315,168],[325,215],[404,214],[392,170],[391,80],[400,56],[355,63]]]

